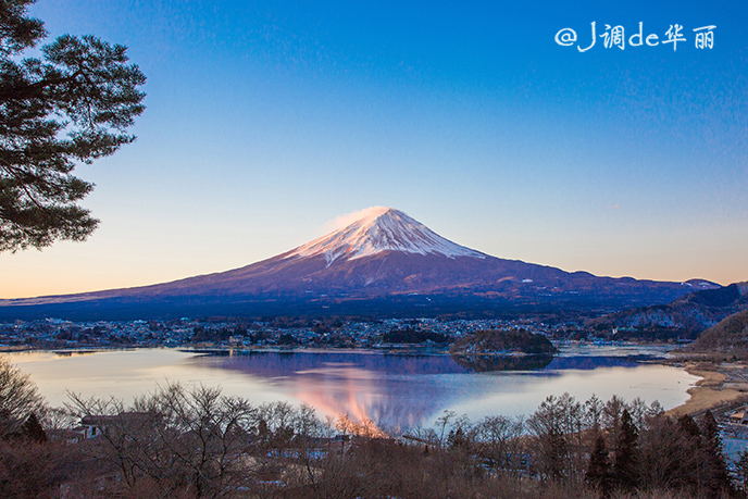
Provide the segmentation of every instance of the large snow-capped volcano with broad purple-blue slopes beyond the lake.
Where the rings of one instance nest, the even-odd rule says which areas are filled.
[[[424,314],[450,307],[569,303],[621,308],[718,287],[707,280],[597,277],[499,259],[452,242],[401,211],[372,208],[339,230],[241,269],[136,288],[0,300],[0,315],[384,313],[391,307]]]

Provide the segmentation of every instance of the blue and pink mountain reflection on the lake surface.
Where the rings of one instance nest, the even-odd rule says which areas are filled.
[[[526,391],[538,378],[559,377],[565,370],[636,367],[641,358],[233,351],[209,352],[188,362],[263,378],[323,416],[345,415],[356,423],[401,429],[429,424],[446,408],[497,388]],[[510,381],[504,375],[511,376],[509,385],[502,383]]]

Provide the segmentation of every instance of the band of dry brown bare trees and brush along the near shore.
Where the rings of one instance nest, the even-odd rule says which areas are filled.
[[[15,392],[36,400],[28,378],[5,370],[28,385]],[[20,429],[0,442],[0,496],[743,497],[710,413],[675,420],[615,397],[549,397],[526,420],[445,413],[398,438],[371,422],[321,421],[307,407],[203,386],[167,385],[128,404],[72,396],[67,423],[52,415],[45,410],[43,429],[17,414],[5,422]],[[53,426],[79,421],[99,433],[52,438]]]

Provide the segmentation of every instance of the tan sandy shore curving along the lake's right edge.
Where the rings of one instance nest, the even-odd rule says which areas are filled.
[[[687,362],[687,373],[700,376],[696,386],[688,389],[690,398],[666,414],[678,417],[698,414],[732,403],[748,401],[748,366],[743,363]]]

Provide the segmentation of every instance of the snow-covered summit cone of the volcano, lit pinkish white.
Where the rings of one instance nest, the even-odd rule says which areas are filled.
[[[383,251],[486,258],[484,253],[446,239],[400,210],[373,207],[357,213],[352,223],[291,250],[287,258],[324,255],[327,264]]]

